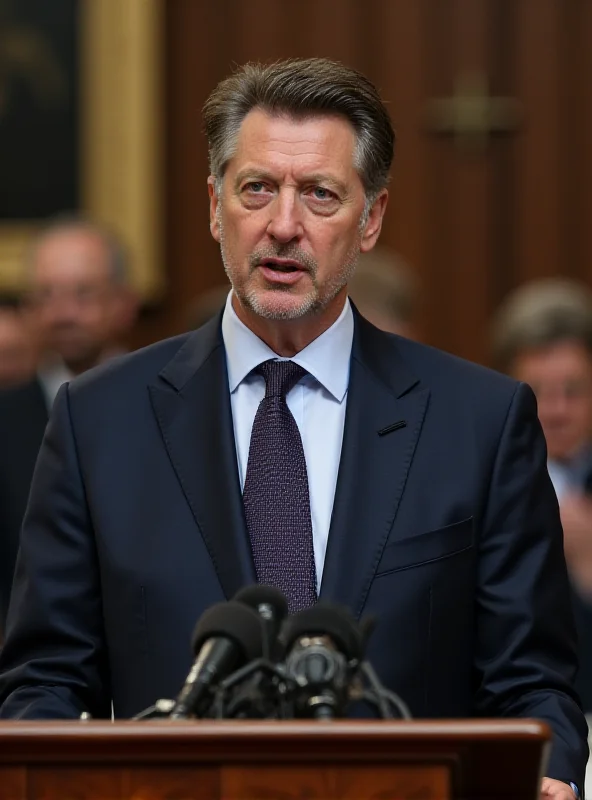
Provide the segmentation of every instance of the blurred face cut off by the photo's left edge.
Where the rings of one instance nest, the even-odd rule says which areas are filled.
[[[0,389],[30,380],[37,349],[18,297],[0,295]]]

